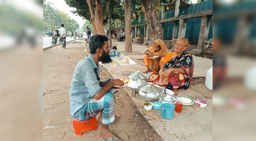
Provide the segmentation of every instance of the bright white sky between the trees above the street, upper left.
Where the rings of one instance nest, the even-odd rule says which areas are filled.
[[[46,0],[46,2],[52,2],[53,8],[56,7],[60,11],[67,13],[72,19],[75,19],[80,26],[83,26],[85,19],[83,20],[82,17],[76,16],[76,14],[70,12],[72,10],[76,10],[76,8],[69,7],[64,0]]]

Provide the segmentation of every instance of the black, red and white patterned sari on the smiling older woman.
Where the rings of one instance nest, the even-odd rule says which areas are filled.
[[[163,66],[163,70],[165,71],[168,68],[182,68],[184,70],[184,73],[178,73],[174,72],[171,73],[169,78],[172,76],[175,76],[179,85],[178,89],[188,89],[190,87],[190,83],[192,81],[193,71],[194,71],[194,61],[193,57],[190,53],[184,51],[182,54],[173,57],[170,59],[165,65]],[[169,90],[173,90],[173,86],[170,82],[165,83],[165,87]],[[160,80],[159,81],[163,81]],[[161,84],[161,83],[160,83]]]

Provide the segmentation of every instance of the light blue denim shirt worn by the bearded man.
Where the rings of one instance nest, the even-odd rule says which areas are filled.
[[[99,64],[96,65],[91,54],[78,62],[69,91],[72,118],[79,118],[83,106],[101,90],[99,74]]]

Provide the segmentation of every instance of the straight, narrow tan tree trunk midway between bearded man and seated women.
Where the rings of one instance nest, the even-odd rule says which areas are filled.
[[[131,0],[125,0],[125,53],[132,53]]]

